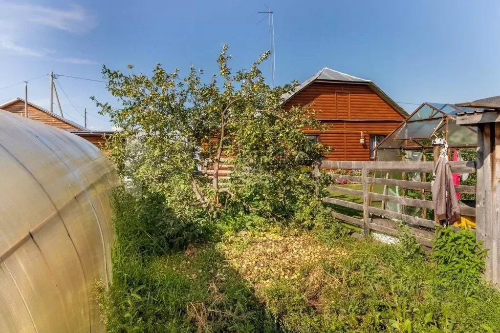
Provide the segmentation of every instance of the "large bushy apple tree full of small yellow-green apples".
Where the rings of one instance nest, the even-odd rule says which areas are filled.
[[[107,143],[120,175],[161,192],[178,216],[191,219],[216,216],[235,204],[286,218],[286,207],[311,199],[325,180],[313,179],[304,167],[327,150],[302,129],[322,126],[309,106],[282,107],[281,96],[296,82],[266,84],[259,65],[268,55],[249,70],[232,73],[224,45],[217,58],[219,75],[209,80],[194,67],[180,78],[177,69],[167,72],[160,64],[151,77],[134,73],[131,65],[128,75],[104,66],[107,88],[121,106],[96,103],[121,129]],[[224,157],[234,167],[222,193],[218,178],[203,168],[217,175]]]

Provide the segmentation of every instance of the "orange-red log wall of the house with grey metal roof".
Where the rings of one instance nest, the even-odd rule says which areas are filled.
[[[387,135],[404,120],[396,109],[366,84],[313,82],[284,107],[312,104],[316,118],[329,130],[305,131],[333,148],[329,160],[368,161],[369,136]],[[360,143],[361,132],[365,143]]]

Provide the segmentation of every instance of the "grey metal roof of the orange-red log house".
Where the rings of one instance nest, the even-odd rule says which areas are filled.
[[[333,69],[330,69],[328,67],[324,67],[320,71],[318,71],[316,74],[312,75],[309,77],[307,80],[299,84],[295,90],[293,90],[290,93],[286,93],[281,96],[282,102],[281,104],[286,103],[289,101],[293,96],[295,96],[297,93],[305,89],[309,84],[312,82],[331,82],[331,83],[354,83],[354,84],[365,84],[369,86],[380,98],[382,98],[387,104],[392,106],[399,114],[401,114],[404,117],[408,116],[408,113],[404,111],[402,107],[400,107],[396,102],[394,102],[389,96],[387,96],[379,87],[376,86],[375,83],[373,83],[370,80],[366,80],[360,77],[352,76],[349,74],[345,74]]]

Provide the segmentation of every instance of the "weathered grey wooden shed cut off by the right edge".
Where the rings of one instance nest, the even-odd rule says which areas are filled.
[[[458,115],[456,123],[477,126],[476,239],[483,241],[483,248],[488,249],[486,278],[499,284],[500,96],[456,105],[481,108]]]

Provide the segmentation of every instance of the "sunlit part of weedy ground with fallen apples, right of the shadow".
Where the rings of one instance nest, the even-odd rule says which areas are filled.
[[[427,258],[401,246],[256,233],[231,238],[222,252],[286,332],[500,330],[500,294],[444,287]]]

